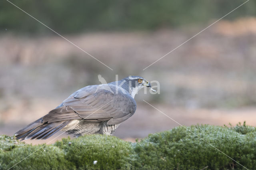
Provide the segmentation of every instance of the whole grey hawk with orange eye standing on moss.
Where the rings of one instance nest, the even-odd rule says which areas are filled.
[[[14,135],[21,140],[47,139],[59,130],[74,136],[113,135],[120,123],[135,113],[134,96],[143,87],[151,85],[139,76],[83,87]]]

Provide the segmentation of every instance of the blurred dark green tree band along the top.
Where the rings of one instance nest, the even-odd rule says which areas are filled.
[[[84,31],[155,30],[198,25],[218,19],[245,1],[241,0],[12,0],[53,30],[65,34]],[[256,15],[256,2],[249,1],[227,16],[233,19]],[[0,2],[0,28],[17,33],[44,34],[49,31],[27,14]]]

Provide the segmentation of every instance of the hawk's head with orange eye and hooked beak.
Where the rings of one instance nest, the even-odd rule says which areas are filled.
[[[125,81],[126,84],[129,86],[129,93],[132,95],[132,97],[134,97],[135,94],[143,87],[151,88],[150,82],[140,76],[125,77],[124,79],[122,79],[122,81]]]

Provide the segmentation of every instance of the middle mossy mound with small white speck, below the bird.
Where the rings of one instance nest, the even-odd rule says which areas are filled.
[[[66,160],[78,169],[130,169],[132,143],[115,136],[86,135],[54,144],[63,149]],[[93,164],[94,161],[96,164]]]

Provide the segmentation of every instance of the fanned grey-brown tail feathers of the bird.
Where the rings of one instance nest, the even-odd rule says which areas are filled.
[[[30,123],[27,127],[19,130],[14,135],[17,139],[47,139],[60,129],[68,125],[70,121],[58,121],[53,123],[44,122],[43,119],[40,118],[32,123]]]

